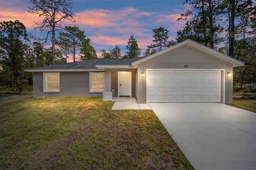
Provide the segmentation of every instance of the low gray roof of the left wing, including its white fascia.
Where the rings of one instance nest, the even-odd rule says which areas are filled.
[[[95,60],[78,61],[73,63],[54,64],[40,67],[34,67],[26,69],[25,71],[36,72],[36,71],[97,71],[97,66],[103,65],[117,65],[117,66],[131,66],[132,62],[138,61],[143,57],[138,58],[98,58]]]

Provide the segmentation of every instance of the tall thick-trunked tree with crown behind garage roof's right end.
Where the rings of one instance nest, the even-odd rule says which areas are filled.
[[[221,4],[222,10],[227,14],[228,28],[228,55],[234,57],[234,43],[235,43],[235,23],[238,22],[243,15],[251,14],[253,12],[251,0],[224,0]]]

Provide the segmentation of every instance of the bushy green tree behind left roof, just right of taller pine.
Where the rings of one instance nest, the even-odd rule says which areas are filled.
[[[95,49],[90,45],[91,39],[87,38],[84,39],[82,42],[82,46],[80,48],[81,50],[81,55],[80,59],[81,60],[94,60],[97,58],[97,54]]]

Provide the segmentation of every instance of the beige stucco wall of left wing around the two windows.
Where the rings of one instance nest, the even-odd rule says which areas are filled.
[[[43,92],[43,72],[33,73],[33,95],[42,96],[89,96],[102,97],[102,93],[90,93],[89,72],[60,72],[60,92]]]

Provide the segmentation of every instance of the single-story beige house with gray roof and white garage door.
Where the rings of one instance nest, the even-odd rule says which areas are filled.
[[[231,103],[233,67],[244,63],[186,40],[139,58],[98,58],[27,69],[42,96],[135,97],[138,103]]]

